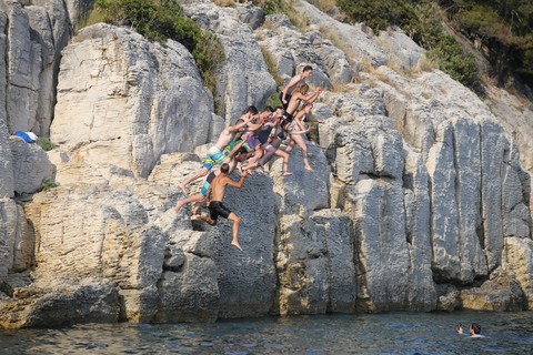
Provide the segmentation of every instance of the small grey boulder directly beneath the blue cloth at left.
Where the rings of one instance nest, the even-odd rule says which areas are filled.
[[[27,143],[20,136],[11,136],[13,156],[14,191],[33,193],[39,191],[42,180],[56,180],[56,166],[50,163],[47,152],[34,143]]]

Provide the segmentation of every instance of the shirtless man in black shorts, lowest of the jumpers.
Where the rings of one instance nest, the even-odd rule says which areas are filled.
[[[204,217],[200,214],[194,214],[191,216],[191,220],[202,220],[208,222],[211,225],[217,225],[217,220],[220,215],[227,219],[228,221],[233,222],[233,240],[231,241],[231,245],[237,246],[242,252],[242,247],[239,244],[239,241],[237,239],[237,235],[239,234],[239,223],[241,222],[241,219],[239,219],[237,214],[228,210],[222,204],[222,200],[224,200],[227,185],[241,189],[244,182],[244,178],[247,178],[247,172],[242,173],[241,180],[239,182],[234,182],[228,176],[229,169],[230,166],[228,164],[222,164],[220,166],[220,175],[214,178],[213,182],[208,189],[207,197],[209,199],[211,194],[213,196],[211,202],[209,203],[209,212],[211,214],[210,217]]]

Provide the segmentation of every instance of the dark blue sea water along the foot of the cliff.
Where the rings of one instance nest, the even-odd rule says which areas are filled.
[[[485,337],[459,335],[459,323],[481,324]],[[533,354],[533,312],[83,324],[2,331],[0,354]]]

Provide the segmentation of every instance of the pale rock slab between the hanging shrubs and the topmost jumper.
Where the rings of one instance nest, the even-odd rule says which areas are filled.
[[[217,70],[217,91],[225,123],[234,123],[250,105],[263,108],[275,81],[249,26],[239,21],[239,12],[200,1],[187,6],[184,14],[222,42],[225,61]]]

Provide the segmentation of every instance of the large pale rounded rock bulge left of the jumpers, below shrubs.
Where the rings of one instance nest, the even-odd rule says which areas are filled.
[[[161,154],[207,142],[212,98],[183,45],[169,40],[162,47],[107,24],[78,37],[82,42],[63,51],[52,142],[77,161],[111,163],[142,178]]]

